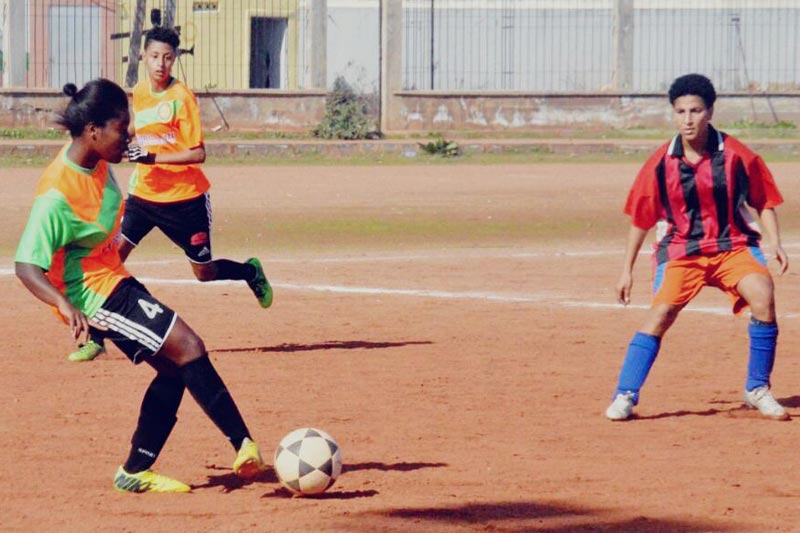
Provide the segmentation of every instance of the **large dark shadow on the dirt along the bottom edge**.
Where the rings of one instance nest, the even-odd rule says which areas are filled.
[[[514,531],[726,531],[709,523],[691,523],[649,517],[603,518],[603,511],[569,505],[536,502],[472,503],[452,507],[411,507],[367,513],[385,518],[408,520],[409,527],[424,530],[429,524],[470,524],[481,529],[510,527]],[[513,523],[512,523],[513,522]]]

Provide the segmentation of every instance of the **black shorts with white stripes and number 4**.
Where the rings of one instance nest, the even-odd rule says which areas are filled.
[[[112,341],[134,364],[161,349],[178,315],[135,278],[125,278],[92,317],[92,331]],[[97,328],[100,326],[100,328]]]

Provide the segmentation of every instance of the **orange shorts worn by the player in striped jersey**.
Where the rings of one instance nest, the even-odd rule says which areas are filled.
[[[736,286],[749,274],[770,276],[767,260],[756,247],[673,259],[655,268],[653,305],[686,305],[709,285],[728,294],[734,314],[739,314],[747,308],[747,302]]]

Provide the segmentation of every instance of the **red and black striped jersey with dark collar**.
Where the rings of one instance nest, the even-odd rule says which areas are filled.
[[[748,207],[783,203],[772,173],[744,144],[709,125],[707,155],[684,158],[681,136],[661,146],[639,171],[625,203],[631,223],[657,226],[656,262],[758,246]]]

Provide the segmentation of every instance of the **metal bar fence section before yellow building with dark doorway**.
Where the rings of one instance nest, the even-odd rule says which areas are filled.
[[[9,39],[4,55],[24,54],[26,62],[24,79],[6,85],[58,88],[102,76],[132,86],[145,76],[139,54],[147,30],[164,25],[174,26],[181,37],[173,74],[195,89],[302,89],[309,80],[311,5],[311,0],[5,0],[0,23],[21,38]]]

